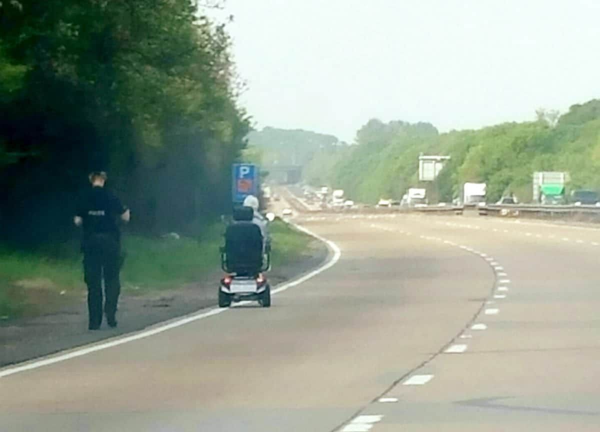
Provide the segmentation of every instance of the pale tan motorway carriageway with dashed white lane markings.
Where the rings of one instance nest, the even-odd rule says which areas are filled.
[[[268,310],[0,370],[0,430],[600,430],[600,230],[298,221],[341,248],[334,266]]]

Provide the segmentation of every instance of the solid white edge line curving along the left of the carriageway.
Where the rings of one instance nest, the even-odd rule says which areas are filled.
[[[310,230],[290,223],[292,226],[294,226],[296,229],[310,235],[313,236],[314,238],[316,238],[317,240],[320,240],[322,242],[324,242],[326,245],[328,245],[328,247],[334,251],[333,256],[331,257],[331,259],[329,259],[328,262],[326,262],[325,264],[323,264],[322,266],[320,266],[317,269],[314,269],[313,271],[305,274],[304,276],[284,283],[283,285],[281,285],[280,287],[278,287],[277,289],[274,289],[271,291],[272,295],[275,295],[277,293],[283,292],[289,288],[298,286],[301,283],[304,283],[305,281],[309,280],[310,278],[315,277],[316,275],[328,270],[329,268],[331,268],[332,266],[335,265],[335,263],[338,262],[338,260],[340,260],[341,257],[341,250],[338,247],[338,245],[336,245],[334,242],[329,241],[328,239],[325,239],[323,237],[321,237],[318,234],[315,234],[313,232],[311,232]],[[172,321],[168,324],[164,324],[164,325],[159,325],[158,327],[149,329],[149,330],[142,330],[140,332],[134,333],[134,334],[130,334],[130,335],[125,335],[123,337],[118,337],[116,339],[107,341],[107,342],[103,342],[103,343],[98,343],[98,344],[94,344],[92,346],[88,346],[88,347],[83,347],[83,348],[79,348],[79,349],[74,349],[74,350],[70,350],[69,352],[63,353],[63,354],[58,354],[58,355],[52,355],[50,357],[47,358],[42,358],[39,360],[34,360],[34,361],[30,361],[30,362],[26,362],[25,364],[21,364],[18,366],[13,366],[13,367],[8,367],[8,368],[4,368],[4,369],[0,369],[0,378],[2,377],[6,377],[9,375],[14,375],[17,373],[21,373],[21,372],[25,372],[28,370],[32,370],[32,369],[37,369],[43,366],[49,366],[55,363],[59,363],[59,362],[63,362],[66,360],[70,360],[70,359],[74,359],[77,357],[81,357],[87,354],[91,354],[93,352],[97,352],[97,351],[101,351],[101,350],[105,350],[108,348],[112,348],[115,346],[119,346],[122,344],[126,344],[129,342],[133,342],[136,340],[140,340],[140,339],[144,339],[150,336],[154,336],[157,335],[159,333],[162,332],[166,332],[167,330],[170,329],[174,329],[174,328],[178,328],[181,326],[184,326],[186,324],[189,324],[191,322],[197,321],[197,320],[201,320],[201,319],[205,319],[214,315],[218,315],[220,313],[226,312],[227,310],[230,310],[229,308],[212,308],[209,311],[206,312],[202,312],[202,313],[194,313],[191,314],[191,316],[187,316],[187,317],[183,317],[181,319],[177,319],[175,321]]]

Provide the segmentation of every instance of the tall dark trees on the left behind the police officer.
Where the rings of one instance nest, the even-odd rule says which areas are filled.
[[[191,0],[0,1],[0,241],[72,239],[95,169],[142,233],[226,211],[238,93],[226,26]]]

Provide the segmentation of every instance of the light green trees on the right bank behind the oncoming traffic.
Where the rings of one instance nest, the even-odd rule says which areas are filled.
[[[514,193],[528,202],[535,171],[568,172],[571,188],[600,191],[600,100],[576,104],[563,115],[538,110],[533,121],[442,134],[427,123],[371,119],[355,144],[317,152],[305,167],[306,180],[343,188],[361,202],[400,199],[419,186],[418,157],[424,153],[451,156],[435,184],[421,184],[441,202],[451,202],[469,181],[486,182],[490,201]]]

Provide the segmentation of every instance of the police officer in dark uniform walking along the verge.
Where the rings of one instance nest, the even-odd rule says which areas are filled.
[[[92,187],[77,206],[74,223],[83,226],[83,274],[88,285],[89,329],[102,324],[104,277],[104,313],[110,327],[116,327],[116,307],[121,293],[121,233],[118,220],[128,222],[130,211],[104,188],[106,172],[89,175]]]

